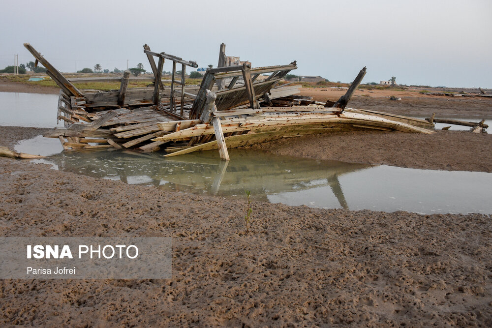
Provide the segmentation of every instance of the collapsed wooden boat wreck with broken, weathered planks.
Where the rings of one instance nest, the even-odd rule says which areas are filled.
[[[196,62],[155,53],[144,45],[154,73],[150,86],[128,88],[130,72],[125,71],[121,79],[70,79],[117,79],[121,81],[119,90],[79,90],[29,43],[24,46],[61,89],[57,119],[63,120],[65,127],[44,136],[59,138],[65,150],[162,149],[167,152],[165,156],[176,156],[218,149],[220,157],[228,160],[227,148],[306,134],[361,129],[433,133],[433,124],[426,120],[345,108],[366,67],[337,102],[320,103],[300,96],[299,86],[278,86],[290,71],[297,69],[296,61],[256,68],[246,62],[225,66],[227,57],[222,44],[219,67],[206,70],[198,88],[185,85],[186,67],[196,68]],[[171,86],[162,83],[165,60],[173,62]],[[181,72],[176,70],[178,64]]]

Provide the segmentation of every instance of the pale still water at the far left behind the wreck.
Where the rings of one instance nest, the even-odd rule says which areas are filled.
[[[0,92],[0,125],[55,127],[58,95]]]

